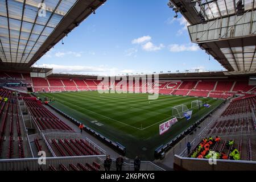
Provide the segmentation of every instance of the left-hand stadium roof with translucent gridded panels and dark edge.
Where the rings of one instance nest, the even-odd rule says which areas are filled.
[[[106,0],[0,0],[0,63],[30,67]]]

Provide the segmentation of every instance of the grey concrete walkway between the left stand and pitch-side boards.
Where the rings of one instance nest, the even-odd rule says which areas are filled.
[[[57,113],[57,111],[53,110],[51,107],[46,106],[46,105],[43,105],[43,106],[46,107],[49,111],[51,111],[54,115],[56,115],[56,117],[60,118],[61,121],[66,123],[73,130],[75,130],[76,133],[80,133],[79,127],[77,127],[74,123],[69,121],[67,118],[63,117],[63,115]],[[82,138],[84,138],[84,139],[88,138],[88,139],[92,140],[92,142],[94,142],[95,144],[100,146],[103,150],[105,150],[106,154],[109,154],[111,158],[116,159],[119,156],[119,154],[117,152],[115,152],[112,148],[110,148],[109,146],[106,146],[104,143],[101,143],[97,138],[94,138],[92,135],[86,133],[85,131],[82,131]]]

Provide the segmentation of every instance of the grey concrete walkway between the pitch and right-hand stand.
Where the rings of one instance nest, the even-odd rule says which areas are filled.
[[[158,159],[155,160],[154,163],[159,166],[166,166],[167,168],[172,169],[174,167],[174,155],[187,156],[187,142],[191,142],[191,150],[193,150],[193,148],[200,142],[205,131],[207,131],[212,123],[214,123],[220,117],[228,105],[229,102],[222,105],[220,109],[217,109],[210,117],[201,122],[195,130],[193,130],[189,135],[184,137],[179,143],[172,147],[171,150],[166,153],[163,160]]]

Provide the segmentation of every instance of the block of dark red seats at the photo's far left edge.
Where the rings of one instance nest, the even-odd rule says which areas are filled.
[[[0,96],[0,158],[29,156],[24,152],[24,130],[20,123],[18,97],[13,90],[6,88],[0,88]]]

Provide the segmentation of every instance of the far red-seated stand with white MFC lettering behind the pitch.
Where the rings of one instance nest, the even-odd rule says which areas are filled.
[[[147,84],[143,84],[142,80],[134,82],[133,86],[129,85],[129,80],[127,80],[127,86],[118,86],[119,81],[101,82],[100,80],[84,80],[84,79],[72,79],[67,78],[32,78],[34,91],[35,92],[64,92],[64,91],[78,91],[78,90],[97,90],[98,85],[101,89],[109,89],[109,86],[113,86],[113,89],[118,91],[126,92],[127,90],[134,90],[137,93],[146,93],[151,90],[148,89]],[[224,79],[225,80],[225,79]],[[35,82],[35,83],[34,83]],[[48,87],[47,82],[49,82],[50,87]],[[41,85],[42,84],[42,85]],[[41,86],[39,86],[41,85]],[[152,83],[152,88],[158,86],[160,94],[173,94],[181,96],[195,96],[195,97],[212,97],[220,99],[228,99],[233,97],[236,93],[245,93],[254,88],[250,86],[246,81],[209,81],[208,80],[198,80],[198,81],[162,81]],[[45,87],[43,87],[45,86]],[[231,91],[233,88],[233,91]],[[251,90],[253,92],[253,90]]]

